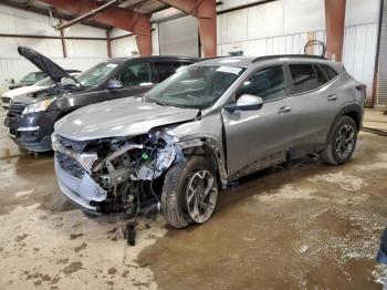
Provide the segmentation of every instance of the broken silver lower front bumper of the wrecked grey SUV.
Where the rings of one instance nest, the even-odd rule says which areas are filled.
[[[55,158],[55,173],[57,184],[70,201],[85,211],[98,214],[98,203],[106,199],[106,191],[101,188],[87,173],[82,178],[76,178],[64,170]]]

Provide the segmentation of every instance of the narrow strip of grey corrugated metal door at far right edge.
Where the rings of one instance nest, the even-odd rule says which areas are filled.
[[[383,4],[376,106],[387,106],[387,1]]]

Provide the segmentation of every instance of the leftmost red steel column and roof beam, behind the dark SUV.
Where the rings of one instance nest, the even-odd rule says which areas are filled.
[[[53,7],[70,11],[74,14],[84,14],[104,2],[94,0],[41,0]],[[150,15],[137,13],[128,9],[115,7],[104,12],[97,13],[93,20],[119,28],[136,35],[137,48],[140,55],[151,54]]]

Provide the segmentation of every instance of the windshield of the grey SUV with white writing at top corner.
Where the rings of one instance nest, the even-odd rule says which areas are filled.
[[[146,101],[206,108],[213,105],[243,71],[229,66],[188,66],[150,90]]]

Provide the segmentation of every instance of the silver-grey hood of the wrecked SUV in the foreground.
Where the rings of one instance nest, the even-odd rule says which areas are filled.
[[[196,108],[163,106],[133,97],[82,107],[55,123],[55,133],[70,139],[135,136],[150,128],[190,121]]]

